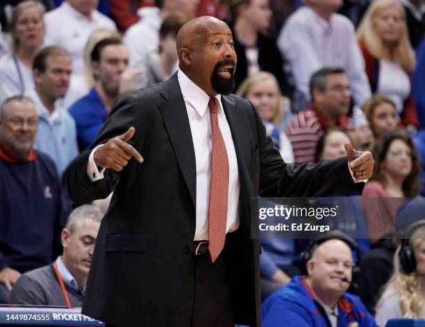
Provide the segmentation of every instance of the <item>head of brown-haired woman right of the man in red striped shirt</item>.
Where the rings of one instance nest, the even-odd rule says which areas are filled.
[[[399,127],[400,119],[394,101],[381,94],[374,94],[367,100],[363,112],[376,138]]]

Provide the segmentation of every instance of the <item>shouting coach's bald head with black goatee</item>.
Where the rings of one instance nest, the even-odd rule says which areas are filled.
[[[233,91],[236,53],[225,22],[209,16],[184,24],[177,34],[178,67],[210,97]]]

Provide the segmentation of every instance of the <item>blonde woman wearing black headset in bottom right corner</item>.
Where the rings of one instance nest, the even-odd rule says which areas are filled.
[[[394,274],[376,305],[376,322],[425,318],[425,221],[417,221],[394,256]]]

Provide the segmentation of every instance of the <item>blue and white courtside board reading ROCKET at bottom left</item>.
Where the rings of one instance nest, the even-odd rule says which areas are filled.
[[[80,309],[0,305],[0,326],[105,326]]]

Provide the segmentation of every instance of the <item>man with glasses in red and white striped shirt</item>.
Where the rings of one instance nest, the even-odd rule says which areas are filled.
[[[346,132],[353,129],[348,116],[351,92],[344,69],[325,67],[315,72],[310,92],[310,108],[294,116],[286,130],[296,165],[315,162],[317,141],[328,128],[339,127]]]

